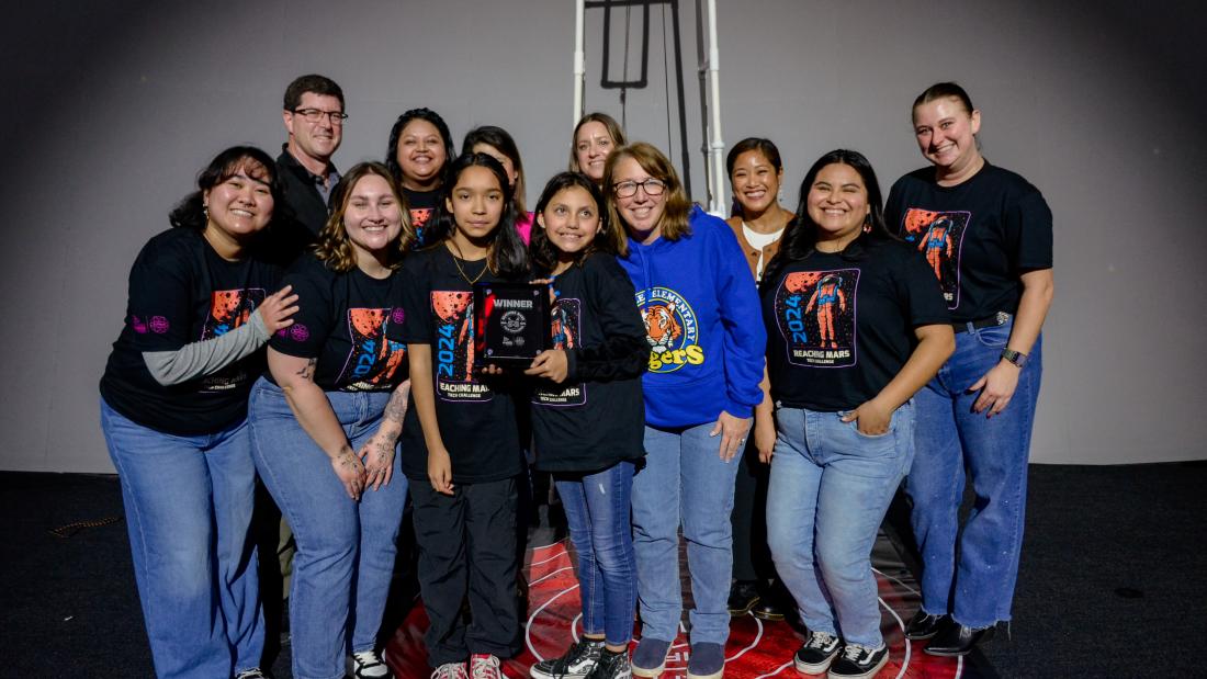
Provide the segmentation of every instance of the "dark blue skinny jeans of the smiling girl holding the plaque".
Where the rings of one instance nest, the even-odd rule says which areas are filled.
[[[632,556],[629,503],[632,462],[618,462],[595,474],[558,475],[570,539],[578,552],[578,592],[583,632],[625,645],[632,638],[637,566]]]

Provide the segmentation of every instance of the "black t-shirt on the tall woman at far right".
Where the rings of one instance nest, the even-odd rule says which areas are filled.
[[[1053,213],[1044,197],[989,163],[951,187],[935,183],[934,168],[903,176],[888,192],[885,219],[938,276],[957,323],[1014,314],[1021,275],[1053,267]]]

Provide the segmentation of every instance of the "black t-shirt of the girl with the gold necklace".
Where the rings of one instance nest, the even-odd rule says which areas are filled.
[[[453,482],[509,479],[523,469],[515,420],[515,384],[473,373],[473,286],[485,261],[459,261],[443,242],[407,256],[402,265],[407,324],[403,341],[432,352],[432,386],[441,439],[453,462]],[[486,271],[483,282],[501,279]],[[427,482],[427,445],[415,408],[402,427],[402,469]]]

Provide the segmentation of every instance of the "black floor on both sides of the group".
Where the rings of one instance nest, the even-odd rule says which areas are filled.
[[[1002,677],[1197,677],[1207,462],[1032,466]],[[0,677],[151,677],[116,478],[0,473]],[[287,677],[287,654],[275,663]]]

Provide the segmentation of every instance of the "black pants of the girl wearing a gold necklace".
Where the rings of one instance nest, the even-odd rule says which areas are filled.
[[[427,660],[439,667],[471,652],[511,657],[520,621],[515,597],[515,479],[459,484],[451,496],[410,480],[419,587],[431,626]],[[468,597],[468,624],[462,603]]]

